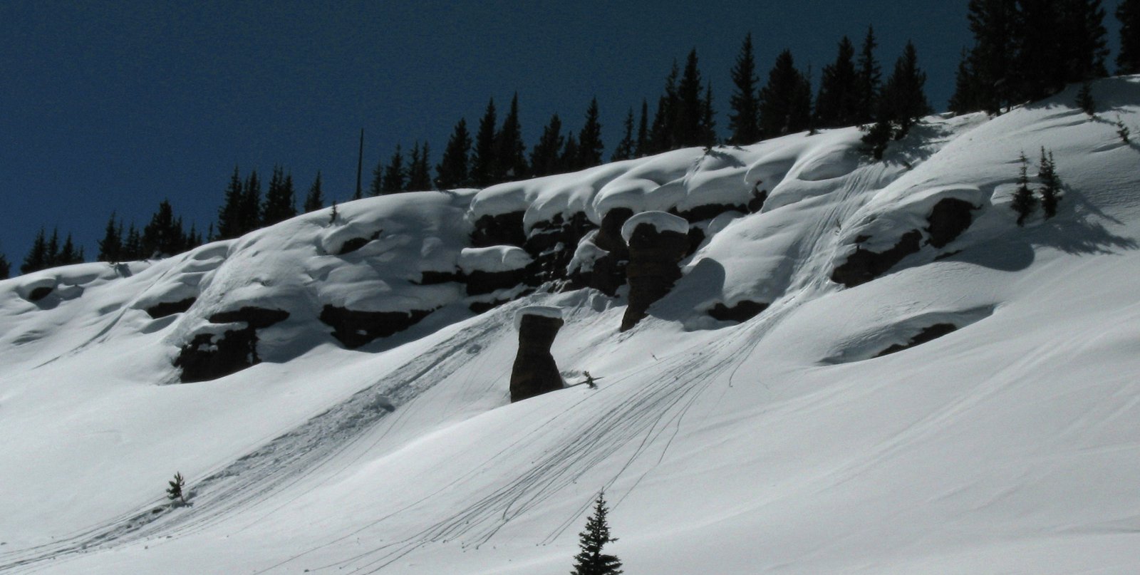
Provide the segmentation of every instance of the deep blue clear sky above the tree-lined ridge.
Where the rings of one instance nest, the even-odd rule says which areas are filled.
[[[942,110],[970,43],[966,3],[7,0],[0,252],[15,273],[35,232],[58,226],[92,259],[112,210],[141,227],[164,197],[205,229],[235,164],[282,164],[301,195],[319,169],[343,201],[361,128],[367,186],[397,143],[426,139],[434,164],[461,116],[474,130],[494,97],[502,120],[514,91],[528,147],[554,112],[577,130],[596,95],[609,156],[626,111],[652,106],[690,48],[723,132],[748,32],[764,78],[783,48],[817,78],[839,38],[857,44],[869,24],[888,72],[913,39]]]

